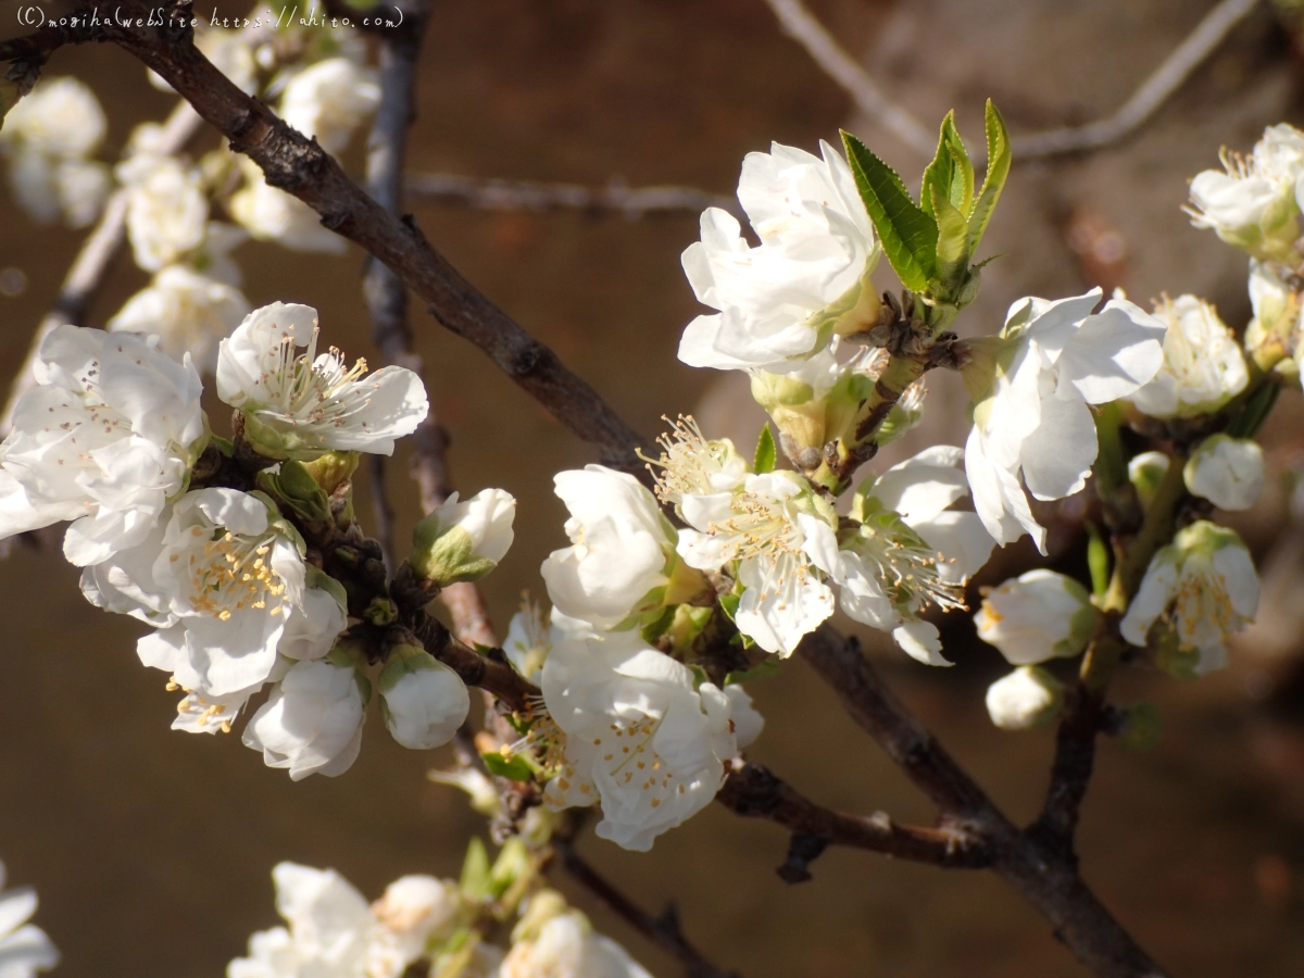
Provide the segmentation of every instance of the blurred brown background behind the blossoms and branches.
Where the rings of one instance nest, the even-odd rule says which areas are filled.
[[[1119,106],[1189,31],[1208,0],[825,0],[812,9],[895,98],[930,125],[955,106],[979,133],[991,95],[1012,130],[1077,123]],[[0,3],[0,37],[21,33]],[[424,48],[413,172],[678,183],[728,193],[742,155],[771,140],[815,149],[850,125],[908,180],[922,160],[866,120],[793,42],[762,0],[437,0]],[[226,0],[220,12],[243,13]],[[171,100],[110,47],[63,50],[48,74],[90,81],[111,120],[108,151]],[[1244,259],[1179,211],[1185,180],[1217,164],[1221,143],[1248,149],[1266,124],[1299,121],[1300,63],[1261,7],[1178,96],[1118,146],[1018,167],[1009,181],[966,331],[991,331],[1015,299],[1081,292],[1097,282],[1145,303],[1197,291],[1230,323],[1248,317]],[[206,136],[209,145],[214,137]],[[355,147],[351,156],[357,168]],[[696,314],[678,266],[694,215],[533,215],[415,207],[428,237],[494,301],[553,346],[644,432],[659,416],[699,412],[708,433],[755,437],[733,379],[674,359]],[[80,236],[34,227],[0,197],[0,270],[25,287],[0,296],[0,373],[17,369]],[[1103,244],[1102,244],[1103,241]],[[313,258],[248,244],[237,258],[254,305],[303,301],[331,343],[373,352],[357,271],[361,254]],[[13,276],[9,276],[13,282]],[[103,323],[145,282],[124,257],[96,304]],[[552,475],[592,460],[475,349],[412,310],[432,400],[454,436],[469,492],[501,485],[520,501],[516,545],[486,584],[499,629],[537,566],[565,540]],[[1274,471],[1304,449],[1297,395],[1266,438]],[[930,441],[960,443],[962,403],[940,383]],[[214,412],[215,424],[223,424]],[[406,455],[390,467],[400,535],[415,522]],[[365,497],[366,489],[363,488]],[[1270,634],[1240,643],[1231,670],[1196,685],[1133,674],[1124,702],[1155,700],[1163,739],[1148,754],[1104,745],[1080,849],[1088,880],[1175,974],[1304,974],[1304,737],[1291,692],[1299,655],[1301,548],[1287,492],[1274,488],[1247,536],[1278,544]],[[368,501],[360,501],[366,511]],[[1069,509],[1072,501],[1069,501]],[[1054,516],[1055,514],[1050,514]],[[1085,570],[1069,528],[1058,566]],[[1284,541],[1282,544],[1281,541]],[[987,583],[1026,566],[1003,557]],[[482,823],[451,789],[426,784],[442,760],[396,747],[376,716],[344,777],[291,784],[233,737],[170,733],[176,696],[133,655],[137,623],[87,605],[57,553],[0,563],[0,858],[40,893],[37,921],[64,952],[57,974],[201,978],[222,974],[250,931],[275,922],[269,871],[279,859],[334,866],[374,897],[404,872],[454,875]],[[962,618],[962,617],[961,617]],[[999,657],[961,619],[958,661],[928,670],[883,651],[906,702],[1016,819],[1041,802],[1052,733],[1001,734],[982,690]],[[1304,686],[1304,683],[1301,683]],[[928,819],[927,803],[835,707],[799,662],[751,690],[768,726],[752,756],[812,798],[853,811]],[[786,838],[708,808],[648,855],[597,840],[582,849],[643,905],[674,897],[689,935],[713,960],[763,975],[1046,975],[1084,971],[1042,919],[994,876],[829,852],[815,879],[773,874]],[[563,888],[574,892],[565,879]],[[653,973],[678,969],[636,934],[576,902]]]

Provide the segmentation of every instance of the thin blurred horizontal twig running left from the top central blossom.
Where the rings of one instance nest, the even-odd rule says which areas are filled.
[[[549,184],[533,180],[494,180],[456,173],[413,173],[403,188],[411,201],[460,203],[481,210],[579,210],[588,214],[623,214],[629,219],[649,214],[700,214],[721,207],[742,215],[738,201],[692,186],[625,186],[613,180],[602,188]]]

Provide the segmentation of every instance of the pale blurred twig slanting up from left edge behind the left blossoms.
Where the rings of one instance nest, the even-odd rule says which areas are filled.
[[[158,151],[163,154],[179,153],[200,130],[202,121],[190,108],[190,103],[184,100],[177,103],[159,133]],[[27,359],[18,368],[13,383],[9,386],[9,399],[5,402],[4,412],[0,413],[0,438],[9,434],[9,429],[13,426],[13,409],[18,398],[37,383],[33,364],[40,353],[40,344],[46,342],[46,336],[64,323],[82,325],[90,310],[90,304],[95,301],[99,287],[108,274],[108,266],[121,252],[124,241],[126,241],[126,190],[117,189],[104,201],[99,222],[86,236],[77,258],[68,269],[64,284],[59,289],[59,297],[42,318],[40,325],[37,326],[37,333],[27,349]]]

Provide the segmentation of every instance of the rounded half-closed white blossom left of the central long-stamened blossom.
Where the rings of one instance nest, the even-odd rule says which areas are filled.
[[[553,484],[570,511],[571,540],[540,569],[553,605],[599,627],[660,605],[653,592],[670,582],[674,531],[652,493],[604,466],[558,472]]]

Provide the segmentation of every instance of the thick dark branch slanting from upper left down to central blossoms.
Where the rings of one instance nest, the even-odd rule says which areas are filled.
[[[123,9],[143,10],[140,3]],[[322,215],[323,226],[385,262],[441,323],[488,353],[562,425],[595,446],[604,463],[648,477],[635,454],[642,438],[592,387],[462,278],[411,219],[386,213],[314,140],[232,85],[194,47],[188,30],[110,27],[107,33],[186,98],[233,150],[253,159],[271,186],[304,201]]]

